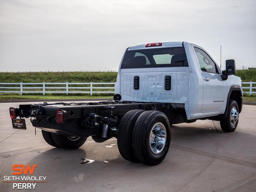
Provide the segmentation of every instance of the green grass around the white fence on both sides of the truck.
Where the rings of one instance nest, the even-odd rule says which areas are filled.
[[[117,72],[0,72],[0,82],[116,82],[116,76]],[[236,76],[239,76],[243,82],[256,82],[256,70],[236,70]],[[49,91],[54,91],[54,89]],[[73,91],[75,90],[73,89]],[[19,94],[1,94],[0,100],[109,98],[111,95],[112,94],[94,94],[94,96],[91,97],[89,94],[70,94],[68,96],[65,94],[46,94],[45,96],[42,94],[23,94],[22,96]],[[256,96],[249,97],[245,95],[244,101],[256,102]]]

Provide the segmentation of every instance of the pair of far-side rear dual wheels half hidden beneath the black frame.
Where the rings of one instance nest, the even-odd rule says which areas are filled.
[[[42,130],[44,140],[51,146],[64,149],[77,149],[84,144],[87,138],[58,135]]]

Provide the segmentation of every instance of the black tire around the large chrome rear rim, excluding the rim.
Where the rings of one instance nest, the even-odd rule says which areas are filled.
[[[154,154],[150,147],[150,135],[152,128],[157,123],[164,125],[166,130],[166,142],[162,152]],[[134,124],[132,132],[132,147],[136,158],[148,165],[157,165],[164,160],[168,153],[171,141],[170,123],[166,115],[160,111],[143,112]]]

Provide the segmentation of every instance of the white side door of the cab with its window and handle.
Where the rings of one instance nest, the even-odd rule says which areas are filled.
[[[222,80],[217,65],[202,49],[194,47],[203,78],[202,113],[223,111],[226,107],[227,82]]]

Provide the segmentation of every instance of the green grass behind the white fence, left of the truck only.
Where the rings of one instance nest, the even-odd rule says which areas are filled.
[[[20,73],[6,73],[0,72],[0,82],[23,82],[23,83],[36,83],[36,82],[46,82],[46,83],[57,83],[57,82],[116,82],[117,72],[20,72]],[[6,87],[17,87],[15,91],[19,91],[19,85],[4,85]],[[23,87],[42,87],[42,85],[23,85]],[[113,87],[114,85],[93,85],[94,87]],[[53,89],[47,89],[47,91],[65,91],[66,85],[46,85],[46,87],[53,87]],[[63,89],[54,89],[54,87],[63,87]],[[90,85],[69,85],[69,87],[81,87],[80,89],[69,89],[69,91],[90,91],[90,89],[82,89],[85,87],[90,87]],[[6,89],[5,89],[6,90]],[[10,89],[8,89],[10,91]],[[24,91],[42,91],[40,89],[24,89]],[[114,89],[93,89],[93,91],[114,91]],[[4,95],[3,95],[4,94]],[[98,98],[108,98],[112,94],[93,94],[98,96]],[[59,99],[66,96],[65,93],[46,93],[45,96],[52,96],[52,98]],[[85,98],[90,98],[90,94],[84,93],[70,93],[68,96],[76,99],[75,97],[84,96]],[[12,99],[43,99],[43,95],[38,94],[25,94],[20,97],[19,93],[2,93],[0,95],[0,100]],[[49,98],[50,99],[50,98]]]

